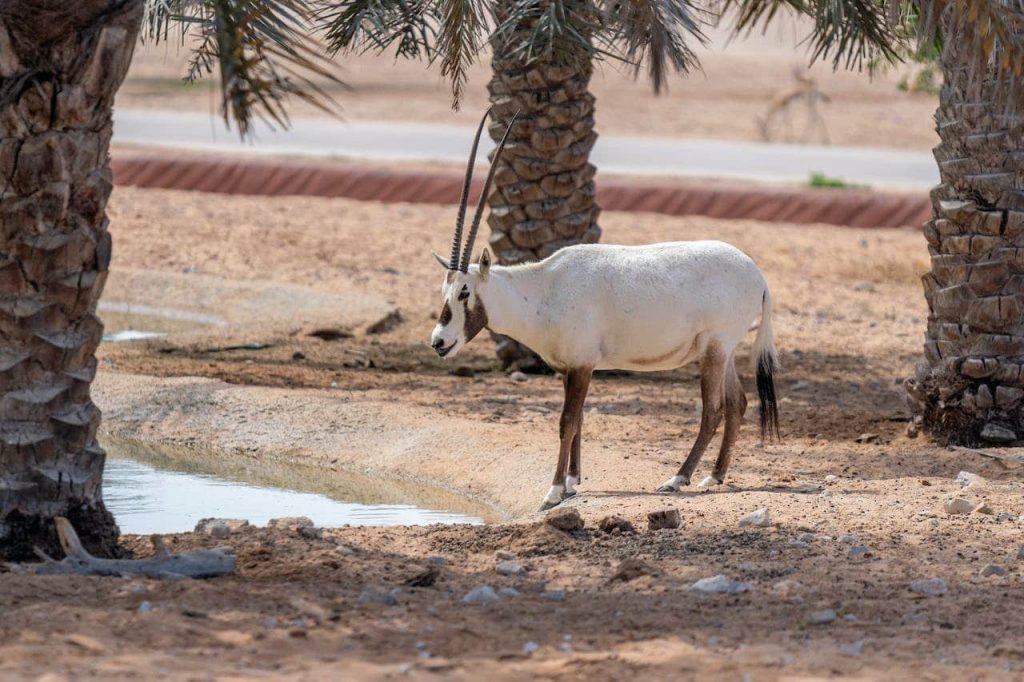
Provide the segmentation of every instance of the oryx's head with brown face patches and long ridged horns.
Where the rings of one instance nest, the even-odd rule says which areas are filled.
[[[469,188],[473,180],[473,164],[476,160],[476,147],[480,141],[480,133],[483,131],[483,124],[487,121],[490,110],[483,115],[480,125],[476,129],[476,136],[473,138],[473,147],[469,153],[469,166],[466,168],[466,180],[462,186],[462,199],[459,201],[459,215],[455,222],[455,239],[452,240],[452,260],[447,263],[444,259],[434,254],[434,258],[444,268],[444,280],[441,282],[441,313],[434,327],[434,333],[430,338],[430,345],[441,357],[455,355],[459,350],[473,340],[484,327],[487,326],[487,311],[483,307],[482,294],[486,288],[487,274],[490,269],[490,254],[486,249],[480,255],[475,265],[469,264],[469,259],[473,254],[473,242],[476,240],[476,231],[480,226],[480,218],[483,217],[483,207],[487,202],[487,193],[490,190],[490,181],[495,177],[495,169],[498,168],[498,159],[505,148],[509,131],[515,123],[518,114],[512,117],[502,141],[498,143],[490,168],[487,171],[487,179],[483,182],[483,189],[480,191],[480,201],[476,206],[476,213],[473,215],[473,222],[469,226],[469,237],[466,239],[465,248],[462,247],[462,225],[466,219],[466,203],[469,200]]]

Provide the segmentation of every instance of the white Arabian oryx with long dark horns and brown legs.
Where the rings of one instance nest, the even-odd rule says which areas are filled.
[[[489,112],[488,112],[489,113]],[[486,121],[487,115],[484,115]],[[515,119],[509,124],[511,129]],[[559,422],[558,465],[542,511],[575,495],[581,481],[583,407],[594,370],[654,372],[700,363],[700,431],[679,472],[658,488],[689,485],[700,456],[722,419],[725,435],[707,487],[721,483],[746,410],[736,375],[736,346],[760,315],[752,360],[761,399],[762,438],[778,435],[773,374],[778,368],[771,327],[771,296],[761,270],[722,242],[648,246],[570,246],[537,263],[493,265],[484,249],[470,265],[473,241],[508,130],[495,152],[480,202],[461,250],[466,201],[480,127],[473,140],[445,268],[443,306],[432,346],[451,357],[480,330],[510,336],[532,348],[562,375],[565,402]]]

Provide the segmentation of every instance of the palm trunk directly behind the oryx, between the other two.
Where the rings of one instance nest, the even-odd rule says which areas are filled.
[[[501,5],[496,13],[503,16]],[[559,66],[544,57],[527,65],[511,54],[530,28],[523,25],[507,41],[494,42],[487,84],[494,105],[489,133],[496,142],[519,112],[488,197],[490,248],[498,262],[506,264],[547,258],[562,247],[601,237],[600,208],[594,199],[597,169],[589,162],[597,140],[589,90],[592,69]],[[506,368],[544,367],[515,341],[496,340]]]

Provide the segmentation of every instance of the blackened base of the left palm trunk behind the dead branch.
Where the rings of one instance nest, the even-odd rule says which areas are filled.
[[[114,515],[103,504],[73,507],[66,514],[69,521],[80,529],[82,545],[93,556],[123,558],[128,552],[118,545],[121,531]],[[39,548],[52,557],[63,556],[56,526],[52,518],[26,516],[12,512],[0,520],[0,560],[33,561]]]

